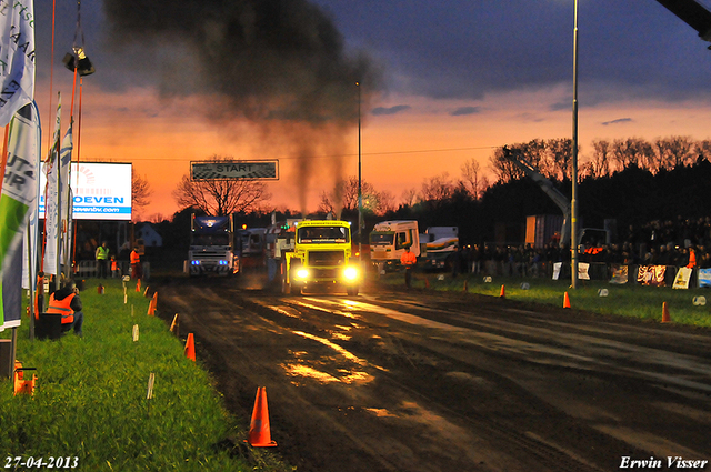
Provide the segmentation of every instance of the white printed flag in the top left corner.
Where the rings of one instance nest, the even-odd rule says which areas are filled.
[[[34,6],[0,2],[0,127],[34,98]]]

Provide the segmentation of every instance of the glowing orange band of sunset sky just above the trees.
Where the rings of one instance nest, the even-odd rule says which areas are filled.
[[[128,96],[92,96],[88,86],[84,93],[87,109],[82,113],[80,159],[132,162],[134,172],[146,177],[153,190],[152,204],[143,217],[153,213],[170,217],[178,211],[171,194],[177,182],[189,172],[191,160],[207,159],[212,154],[248,160],[279,159],[280,180],[269,182],[273,195],[271,203],[277,208],[299,209],[294,192],[300,182],[294,181],[293,154],[279,153],[279,149],[270,154],[260,153],[262,145],[259,142],[252,144],[250,133],[257,132],[249,125],[237,130],[234,127],[210,125],[199,114],[183,113],[184,109],[179,103],[162,109],[160,119],[140,114],[129,117],[121,111],[124,107],[140,108],[150,103],[161,108],[161,104],[141,91]],[[555,93],[555,90],[549,93]],[[492,148],[498,145],[535,138],[570,137],[572,113],[567,110],[547,111],[545,94],[491,97],[480,102],[482,108],[490,108],[490,112],[468,117],[448,116],[448,110],[461,106],[457,101],[390,98],[383,106],[417,101],[417,108],[397,117],[365,117],[361,127],[363,180],[378,190],[389,190],[400,201],[404,190],[419,189],[429,177],[449,172],[451,178],[458,178],[462,164],[470,159],[488,168]],[[602,124],[602,120],[610,117],[633,117],[633,121]],[[711,110],[691,101],[670,107],[650,99],[582,111],[579,118],[581,160],[584,160],[590,141],[597,138],[641,137],[651,140],[681,134],[707,139]],[[358,129],[347,133],[344,141],[344,174],[357,175]],[[329,159],[332,158],[323,155],[316,159],[316,172],[309,182],[309,210],[316,210],[321,192],[333,185],[336,175],[329,169]]]

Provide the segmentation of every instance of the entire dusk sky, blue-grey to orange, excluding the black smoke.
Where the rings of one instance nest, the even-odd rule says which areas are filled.
[[[121,3],[106,0],[82,6],[84,46],[97,73],[83,79],[81,141],[80,147],[74,141],[74,160],[132,162],[153,191],[150,208],[140,217],[171,217],[179,210],[171,193],[189,172],[190,161],[216,154],[278,159],[280,180],[268,183],[272,193],[268,204],[277,209],[299,210],[297,190],[308,188],[307,209],[313,211],[321,192],[331,190],[337,178],[357,175],[354,121],[336,139],[337,145],[318,148],[311,178],[300,182],[294,171],[297,151],[278,132],[266,138],[261,122],[206,118],[210,99],[201,90],[213,89],[201,87],[210,83],[209,77],[196,72],[197,79],[190,80],[201,87],[166,98],[160,93],[167,87],[164,71],[177,69],[171,80],[191,78],[191,59],[182,62],[181,47],[158,47],[158,33],[140,47],[116,48],[114,37],[104,33],[103,8],[122,12],[130,8]],[[453,1],[447,7],[422,0],[409,7],[375,1],[309,3],[320,6],[342,34],[346,56],[365,51],[382,71],[372,101],[361,112],[362,177],[377,190],[393,194],[395,204],[404,190],[419,189],[424,179],[443,172],[459,178],[468,160],[475,159],[488,170],[497,147],[572,135],[572,1],[543,0],[535,9],[519,0],[498,7],[472,3],[478,2]],[[73,8],[61,6],[58,13],[62,23],[58,22],[54,40],[51,92],[50,37],[44,29],[38,30],[36,100],[43,149],[58,91],[64,108],[62,134],[69,119],[72,74],[63,69],[61,57],[72,44]],[[48,9],[48,0],[36,2],[38,28],[47,28],[41,20],[50,18]],[[711,52],[691,28],[651,0],[624,6],[583,0],[580,14],[581,161],[593,139],[689,135],[702,140],[711,135]],[[413,33],[418,31],[424,33]],[[222,69],[216,63],[209,74],[220,74]],[[362,87],[367,90],[368,83]],[[381,113],[373,113],[374,109]],[[343,157],[341,175],[333,172],[334,155]]]

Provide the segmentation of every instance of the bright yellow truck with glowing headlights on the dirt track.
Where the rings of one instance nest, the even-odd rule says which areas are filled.
[[[281,257],[281,292],[302,293],[314,287],[344,288],[357,295],[362,278],[352,258],[351,225],[338,220],[296,223],[293,251]]]

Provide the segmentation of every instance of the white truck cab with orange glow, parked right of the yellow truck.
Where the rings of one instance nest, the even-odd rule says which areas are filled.
[[[383,273],[388,268],[400,264],[404,248],[420,257],[420,230],[417,221],[382,221],[370,233],[370,260]]]

